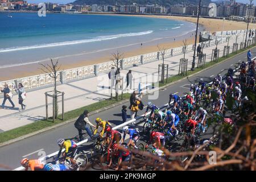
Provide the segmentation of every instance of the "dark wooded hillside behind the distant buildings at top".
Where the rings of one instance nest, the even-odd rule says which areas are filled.
[[[201,1],[204,5],[209,5],[210,0]],[[138,5],[162,5],[162,6],[170,6],[176,4],[191,4],[198,5],[199,0],[76,0],[73,4],[76,5],[132,5],[133,3],[137,3]]]

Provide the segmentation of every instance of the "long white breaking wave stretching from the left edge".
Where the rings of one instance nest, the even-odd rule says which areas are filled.
[[[28,49],[57,47],[57,46],[69,46],[69,45],[74,45],[74,44],[82,44],[82,43],[90,43],[90,42],[99,42],[102,40],[112,40],[112,39],[123,38],[123,37],[128,37],[128,36],[146,35],[146,34],[151,34],[152,32],[153,32],[152,30],[149,30],[149,31],[137,32],[137,33],[98,36],[97,38],[94,38],[94,39],[74,40],[74,41],[49,43],[49,44],[39,44],[39,45],[34,45],[34,46],[12,47],[12,48],[0,49],[0,53],[11,52],[11,51],[24,51],[24,50],[28,50]]]

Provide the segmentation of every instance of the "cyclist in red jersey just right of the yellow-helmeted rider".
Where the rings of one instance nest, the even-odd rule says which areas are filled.
[[[110,126],[106,127],[106,138],[105,142],[108,144],[108,148],[112,147],[112,144],[119,143],[121,141],[121,133],[117,130],[112,130]]]

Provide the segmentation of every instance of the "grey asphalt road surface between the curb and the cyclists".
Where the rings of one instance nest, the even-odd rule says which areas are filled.
[[[255,55],[256,48],[252,49],[251,51],[253,55]],[[212,81],[214,76],[216,76],[218,73],[224,75],[228,71],[228,68],[235,68],[237,63],[241,62],[242,60],[247,60],[246,53],[238,55],[233,59],[217,65],[216,67],[208,69],[207,71],[201,72],[196,76],[177,82],[176,84],[169,86],[166,90],[160,90],[158,100],[154,100],[152,102],[154,102],[155,105],[162,106],[168,102],[168,96],[170,92],[183,96],[188,92],[189,85],[191,83],[199,82],[200,78],[204,78],[205,81]],[[144,105],[147,103],[147,100],[148,96],[145,96],[143,98]],[[128,106],[129,103],[127,102],[125,105]],[[102,111],[100,114],[90,116],[90,121],[94,121],[97,117],[101,117],[102,119],[108,119],[109,122],[113,123],[114,126],[119,125],[121,124],[121,117],[119,115],[120,113],[121,106],[113,107],[107,111]],[[143,113],[144,110],[140,111],[138,114],[141,115]],[[44,151],[46,152],[46,155],[51,154],[52,152],[59,150],[59,147],[56,144],[57,139],[72,138],[75,135],[77,135],[77,130],[73,127],[73,123],[69,123],[68,125],[47,131],[46,133],[24,139],[20,142],[10,144],[9,146],[1,147],[0,164],[5,164],[11,168],[19,167],[19,161],[24,156],[31,159],[39,158],[41,156],[38,155],[38,151]],[[210,130],[209,134],[207,134],[205,137],[207,138],[208,136],[210,136]],[[86,146],[85,149],[86,148],[90,148],[90,146]]]

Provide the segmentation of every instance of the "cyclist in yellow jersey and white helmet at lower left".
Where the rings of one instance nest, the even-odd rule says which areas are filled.
[[[77,150],[76,142],[73,141],[73,140],[64,140],[63,138],[61,138],[61,139],[57,140],[57,144],[60,147],[59,153],[57,155],[57,159],[59,159],[62,149],[65,148],[65,151],[63,152],[63,155],[62,155],[63,156],[63,162],[67,158],[68,152],[72,151],[70,162],[74,166],[77,166],[75,160],[73,160],[73,158],[75,157],[75,154],[76,154],[76,150]]]

